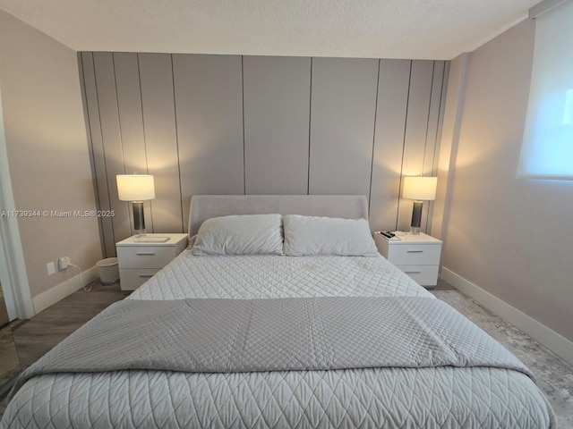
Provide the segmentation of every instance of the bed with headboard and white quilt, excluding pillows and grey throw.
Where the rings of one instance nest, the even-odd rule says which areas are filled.
[[[210,219],[249,214],[368,218],[360,196],[195,196],[190,235]],[[196,256],[192,250],[128,299],[338,297],[438,301],[380,255]],[[444,365],[38,374],[16,392],[0,427],[541,428],[555,427],[555,421],[524,371]]]

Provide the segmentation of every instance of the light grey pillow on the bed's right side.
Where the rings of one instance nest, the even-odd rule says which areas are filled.
[[[285,255],[339,255],[343,257],[378,257],[378,249],[365,219],[283,216]]]

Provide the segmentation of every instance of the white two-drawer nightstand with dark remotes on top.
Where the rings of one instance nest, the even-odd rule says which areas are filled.
[[[422,286],[435,286],[438,283],[441,241],[424,233],[406,233],[397,237],[400,240],[389,240],[381,233],[374,232],[374,240],[382,257]]]

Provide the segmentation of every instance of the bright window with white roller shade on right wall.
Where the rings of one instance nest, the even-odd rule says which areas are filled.
[[[573,2],[536,17],[534,65],[517,177],[573,180],[572,41]]]

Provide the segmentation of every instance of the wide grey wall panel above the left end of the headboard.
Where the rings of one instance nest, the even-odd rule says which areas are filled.
[[[194,194],[242,194],[243,88],[238,55],[173,55],[184,229]]]

